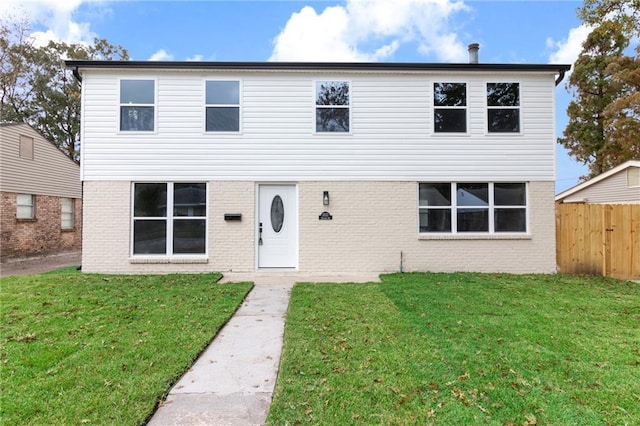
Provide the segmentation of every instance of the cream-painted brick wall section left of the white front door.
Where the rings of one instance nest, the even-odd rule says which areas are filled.
[[[206,262],[131,257],[131,182],[84,183],[82,270],[112,273],[251,271],[254,263],[253,182],[209,182]],[[224,220],[241,213],[241,221]]]

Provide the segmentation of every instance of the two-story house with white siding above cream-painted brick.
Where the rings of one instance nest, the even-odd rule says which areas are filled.
[[[84,271],[556,270],[569,66],[67,65]]]

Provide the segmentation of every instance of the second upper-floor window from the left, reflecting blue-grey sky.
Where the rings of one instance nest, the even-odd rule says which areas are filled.
[[[206,82],[207,132],[240,131],[240,82],[210,80]]]

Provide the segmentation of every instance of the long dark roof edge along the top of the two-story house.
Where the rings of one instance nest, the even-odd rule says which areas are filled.
[[[202,61],[65,61],[72,68],[216,69],[216,70],[341,70],[341,71],[554,71],[571,69],[565,64],[470,64],[420,62],[202,62]]]

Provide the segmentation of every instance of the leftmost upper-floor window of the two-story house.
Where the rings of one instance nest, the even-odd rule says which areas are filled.
[[[120,80],[120,130],[154,130],[155,81]]]

